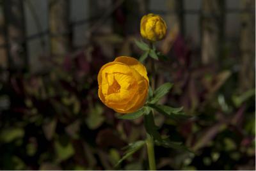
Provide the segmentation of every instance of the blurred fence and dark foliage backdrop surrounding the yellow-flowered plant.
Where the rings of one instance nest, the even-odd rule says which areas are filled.
[[[97,73],[139,58],[140,19],[161,15],[161,103],[192,121],[156,114],[162,135],[195,154],[156,147],[159,170],[255,170],[254,0],[1,0],[0,169],[110,170],[145,138],[143,119],[116,119],[97,96]],[[147,66],[147,61],[145,62]],[[147,170],[141,149],[116,169]]]

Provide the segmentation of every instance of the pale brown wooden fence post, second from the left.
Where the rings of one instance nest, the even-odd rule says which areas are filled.
[[[69,0],[49,0],[49,27],[52,56],[63,57],[71,50],[69,13]]]

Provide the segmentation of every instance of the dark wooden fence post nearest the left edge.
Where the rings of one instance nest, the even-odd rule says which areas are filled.
[[[23,1],[4,0],[3,4],[4,34],[6,34],[10,70],[24,71],[28,67],[28,56]]]

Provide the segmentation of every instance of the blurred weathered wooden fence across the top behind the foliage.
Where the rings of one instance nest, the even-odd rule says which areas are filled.
[[[86,0],[76,1],[84,2]],[[200,42],[198,48],[201,52],[202,64],[216,63],[221,57],[221,48],[225,47],[226,34],[225,23],[229,13],[237,14],[236,20],[239,20],[239,35],[237,35],[236,44],[239,47],[241,63],[239,64],[239,79],[246,89],[255,77],[255,0],[237,0],[240,8],[228,8],[228,0],[109,0],[92,1],[87,0],[89,9],[88,16],[84,19],[70,21],[70,6],[74,1],[70,0],[48,0],[47,11],[39,15],[47,15],[49,20],[48,29],[42,29],[38,22],[38,13],[36,9],[40,6],[33,6],[31,0],[1,0],[0,13],[0,67],[3,70],[10,71],[28,71],[34,70],[35,57],[31,56],[33,48],[29,42],[39,39],[40,45],[46,54],[51,56],[65,56],[65,54],[76,49],[74,38],[76,36],[76,27],[86,25],[84,30],[84,42],[90,36],[102,31],[106,33],[118,33],[116,27],[116,16],[118,11],[125,10],[128,16],[125,20],[129,28],[127,34],[134,34],[139,26],[140,17],[148,12],[159,13],[167,20],[168,26],[178,26],[180,33],[187,36],[189,29],[193,27],[186,26],[186,15],[196,15],[199,17],[198,33]],[[188,10],[186,3],[197,2],[199,9]],[[234,1],[233,1],[234,2]],[[158,4],[157,4],[158,3]],[[161,3],[161,4],[160,4]],[[230,3],[230,1],[229,1]],[[160,6],[160,10],[152,9],[150,6]],[[163,6],[163,7],[161,7]],[[26,16],[24,7],[29,8],[30,17],[34,17],[38,33],[28,34],[26,28]],[[74,10],[74,9],[73,9]],[[122,18],[122,16],[119,16]],[[122,20],[122,19],[119,19]],[[121,21],[122,22],[122,21]],[[135,29],[134,29],[135,28]],[[121,27],[122,29],[122,27]],[[232,28],[231,28],[232,30]],[[29,35],[29,36],[28,36]],[[87,37],[86,37],[87,36]],[[47,48],[49,46],[49,48]],[[83,45],[82,45],[83,46]],[[252,62],[253,61],[253,62]]]

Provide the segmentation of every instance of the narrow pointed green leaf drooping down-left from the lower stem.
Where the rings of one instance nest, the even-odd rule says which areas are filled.
[[[115,167],[117,167],[118,165],[120,165],[120,163],[122,163],[122,161],[124,161],[125,159],[129,158],[129,156],[131,156],[132,154],[134,154],[134,152],[138,151],[141,147],[143,147],[143,145],[145,145],[145,141],[137,141],[134,143],[129,144],[127,147],[125,147],[124,149],[126,149],[124,156],[116,163]]]

